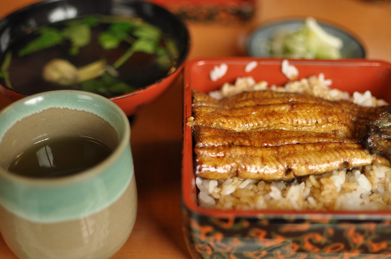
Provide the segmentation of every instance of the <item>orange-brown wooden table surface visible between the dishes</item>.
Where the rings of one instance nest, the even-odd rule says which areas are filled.
[[[1,0],[0,17],[36,0]],[[242,24],[187,21],[190,59],[245,55],[246,35],[264,21],[313,16],[347,28],[364,43],[367,58],[391,62],[391,1],[259,0]],[[190,258],[181,230],[180,163],[182,77],[131,122],[131,147],[138,185],[133,232],[114,259]],[[0,108],[10,101],[0,96]],[[0,237],[0,258],[16,258]]]

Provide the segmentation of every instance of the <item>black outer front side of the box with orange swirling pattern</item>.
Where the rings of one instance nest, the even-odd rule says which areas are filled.
[[[183,209],[194,258],[391,258],[390,220],[216,218]]]

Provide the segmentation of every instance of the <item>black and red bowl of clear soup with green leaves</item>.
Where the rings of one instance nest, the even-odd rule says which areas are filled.
[[[186,25],[142,0],[47,0],[0,21],[0,91],[109,98],[130,116],[160,96],[187,60]]]

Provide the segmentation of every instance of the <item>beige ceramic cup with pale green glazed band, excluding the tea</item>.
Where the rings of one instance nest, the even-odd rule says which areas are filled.
[[[87,136],[113,152],[97,165],[61,178],[8,172],[15,156],[43,139]],[[128,239],[137,195],[124,112],[101,96],[45,92],[0,112],[0,230],[20,258],[109,258]]]

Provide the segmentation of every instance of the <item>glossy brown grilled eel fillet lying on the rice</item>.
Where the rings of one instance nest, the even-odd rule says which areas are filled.
[[[195,173],[205,179],[289,180],[335,169],[390,165],[361,139],[390,107],[363,107],[299,93],[193,95]]]

